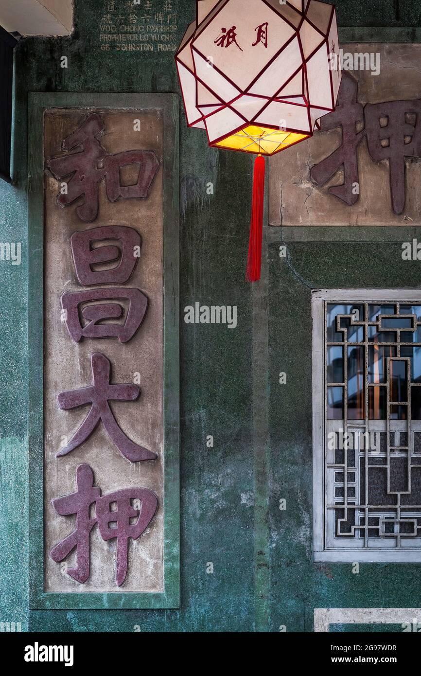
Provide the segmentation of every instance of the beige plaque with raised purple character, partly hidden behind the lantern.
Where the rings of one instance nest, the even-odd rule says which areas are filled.
[[[342,45],[337,110],[269,160],[270,224],[421,224],[421,45]]]

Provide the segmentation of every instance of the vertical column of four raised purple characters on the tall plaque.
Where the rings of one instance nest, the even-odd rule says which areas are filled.
[[[61,181],[57,203],[67,208],[76,199],[76,214],[82,222],[92,222],[99,214],[99,185],[105,183],[109,201],[145,199],[159,169],[155,152],[128,150],[109,155],[101,145],[104,122],[97,113],[62,141],[66,151],[51,158],[47,167]],[[120,169],[134,166],[137,179],[122,185]],[[64,183],[63,183],[64,182]],[[63,187],[66,189],[63,191]],[[147,314],[148,299],[140,290],[128,287],[141,256],[141,235],[128,226],[109,225],[76,231],[70,236],[70,251],[80,291],[64,291],[61,295],[61,318],[66,322],[68,340],[80,343],[90,339],[118,339],[120,349],[141,327]],[[113,267],[110,265],[114,264]],[[103,286],[107,285],[107,286]],[[76,345],[75,345],[76,347]],[[91,354],[91,382],[84,387],[57,393],[61,410],[86,409],[80,414],[80,425],[66,444],[57,451],[57,458],[66,456],[91,437],[102,425],[116,452],[130,462],[155,460],[154,450],[143,448],[130,439],[130,429],[119,425],[109,402],[132,402],[141,394],[138,385],[116,383],[112,364],[103,352]],[[113,452],[105,451],[107,452]],[[64,470],[57,460],[57,471]],[[53,507],[61,516],[76,514],[76,529],[53,550],[55,562],[65,560],[76,549],[76,567],[66,573],[80,583],[90,574],[90,533],[98,525],[104,541],[116,538],[116,583],[124,583],[128,570],[128,541],[141,537],[157,510],[157,497],[143,487],[122,488],[101,496],[94,485],[93,469],[88,464],[76,468],[75,493],[55,498]],[[95,516],[90,507],[95,504]]]

